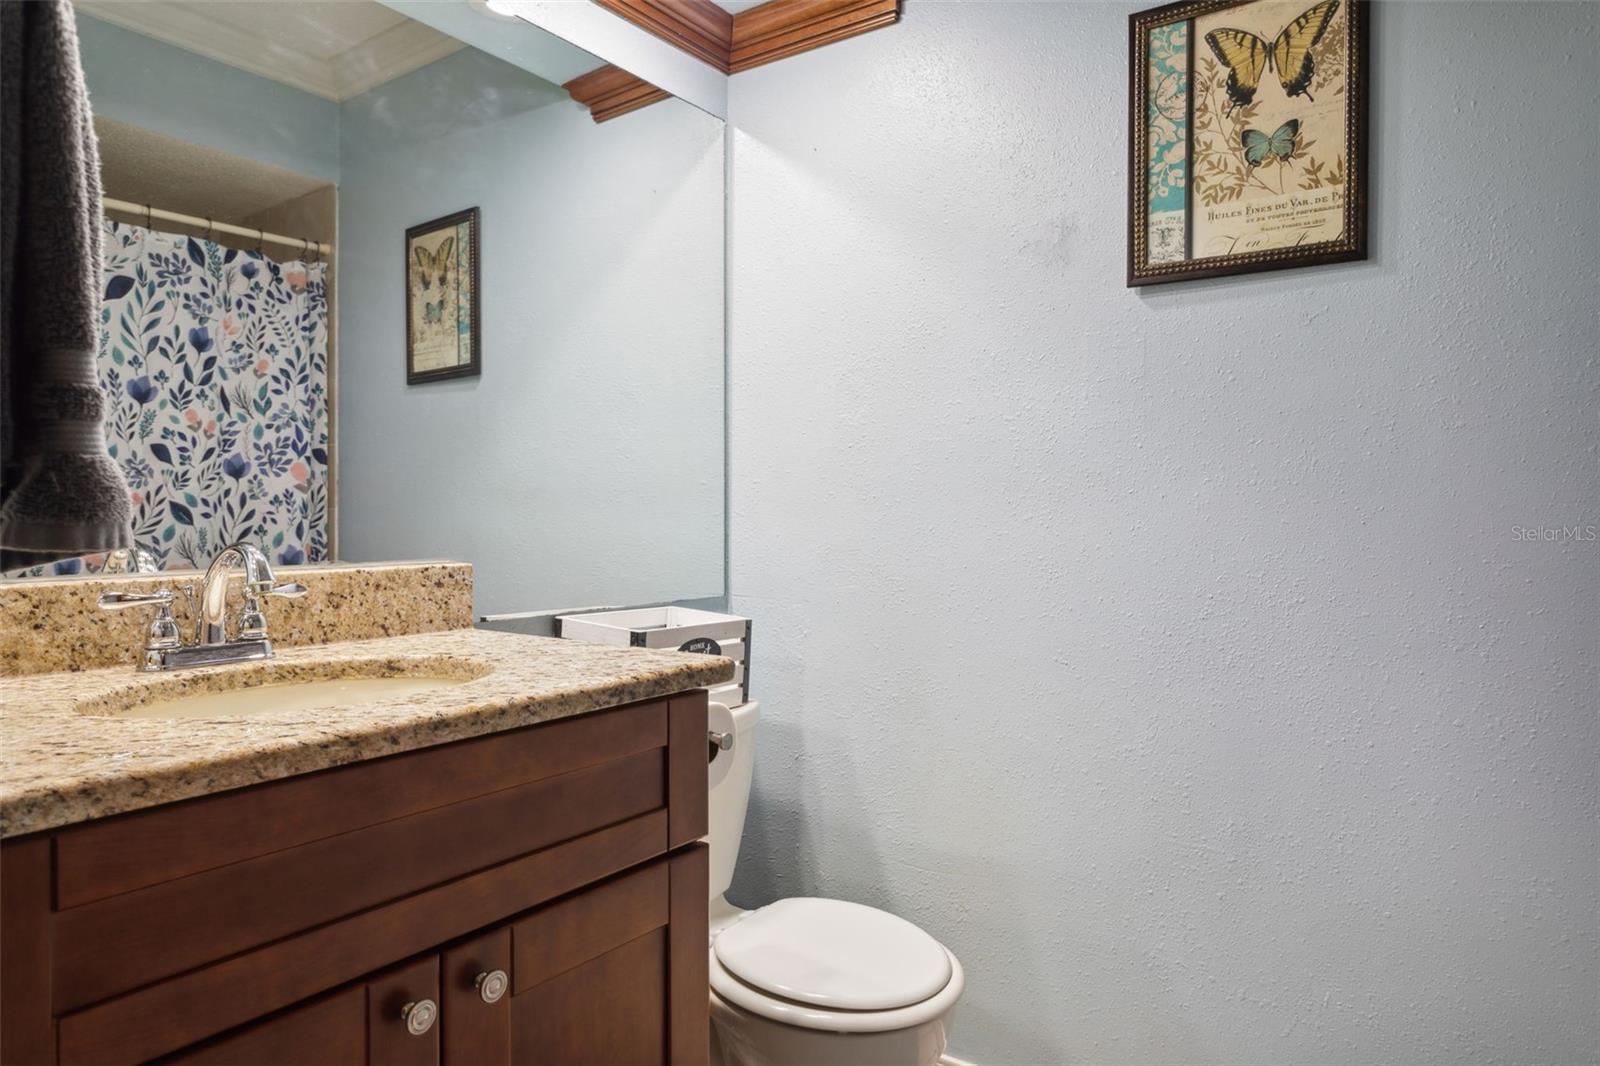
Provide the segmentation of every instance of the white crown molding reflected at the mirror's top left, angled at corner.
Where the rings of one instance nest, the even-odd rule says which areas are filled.
[[[264,45],[254,34],[208,14],[198,5],[170,0],[77,0],[75,6],[102,22],[333,102],[342,102],[466,48],[438,30],[406,21],[333,59],[318,59],[282,45]]]

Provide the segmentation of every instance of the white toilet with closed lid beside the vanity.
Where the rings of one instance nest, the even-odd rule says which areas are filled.
[[[710,704],[712,1066],[933,1066],[965,978],[906,919],[843,900],[741,911],[733,884],[760,704]]]

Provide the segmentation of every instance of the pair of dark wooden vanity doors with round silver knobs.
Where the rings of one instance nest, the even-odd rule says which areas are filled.
[[[670,980],[701,973],[704,938],[672,898],[706,887],[706,848],[648,863],[443,951],[290,1007],[162,1061],[173,1066],[502,1066],[669,1058]],[[674,959],[674,944],[680,957]],[[693,951],[699,948],[699,951]],[[688,973],[675,973],[686,968]],[[704,986],[696,984],[706,999]],[[421,1032],[411,1012],[429,1004]],[[680,1004],[680,1026],[698,1012]],[[424,1007],[429,1010],[429,1007]],[[418,1026],[421,1028],[421,1026]],[[680,1034],[682,1040],[682,1034]],[[699,1061],[698,1040],[670,1061]]]

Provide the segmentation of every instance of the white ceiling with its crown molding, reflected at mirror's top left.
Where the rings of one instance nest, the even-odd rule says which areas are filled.
[[[376,0],[77,0],[75,6],[331,101],[464,48]]]

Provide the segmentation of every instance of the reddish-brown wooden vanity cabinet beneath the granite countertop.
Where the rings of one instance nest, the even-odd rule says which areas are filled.
[[[8,840],[0,1063],[704,1063],[704,832],[693,691]]]

